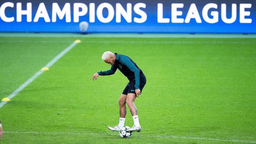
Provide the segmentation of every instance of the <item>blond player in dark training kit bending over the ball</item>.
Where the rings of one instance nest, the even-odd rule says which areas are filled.
[[[126,115],[126,104],[130,108],[134,125],[132,128],[128,129],[127,132],[140,132],[141,126],[139,123],[139,117],[137,114],[137,108],[134,104],[136,97],[139,97],[143,87],[146,84],[146,77],[141,71],[141,69],[132,61],[129,57],[112,52],[104,52],[102,55],[102,60],[111,65],[111,69],[107,71],[100,71],[95,73],[92,76],[92,79],[95,80],[100,76],[113,75],[116,72],[116,69],[119,69],[124,76],[129,80],[129,83],[124,88],[124,91],[118,100],[119,103],[119,124],[114,127],[108,127],[112,131],[119,131],[120,128],[124,126],[125,115]]]

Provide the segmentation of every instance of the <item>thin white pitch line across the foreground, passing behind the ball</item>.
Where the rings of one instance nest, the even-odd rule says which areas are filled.
[[[57,135],[111,135],[116,134],[104,134],[104,133],[75,133],[75,132],[5,132],[5,133],[16,133],[16,134],[57,134]],[[179,137],[179,136],[159,136],[159,135],[139,135],[140,137],[158,137],[158,138],[172,138],[172,139],[190,139],[190,140],[213,140],[213,141],[231,141],[237,143],[256,143],[252,140],[225,140],[225,139],[213,139],[213,138],[198,138],[198,137]]]

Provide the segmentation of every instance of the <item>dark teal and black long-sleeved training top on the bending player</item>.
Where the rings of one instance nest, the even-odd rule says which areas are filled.
[[[118,68],[124,76],[128,78],[128,80],[131,82],[135,79],[135,89],[140,88],[140,74],[143,74],[143,72],[140,70],[140,68],[136,65],[132,59],[130,59],[128,56],[122,55],[122,54],[116,54],[116,61],[115,64],[111,66],[111,69],[107,71],[100,71],[98,74],[100,76],[108,76],[113,75],[116,72],[116,69]]]

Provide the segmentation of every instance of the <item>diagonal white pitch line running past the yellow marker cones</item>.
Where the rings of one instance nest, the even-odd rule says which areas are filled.
[[[65,53],[67,53],[69,50],[71,50],[76,44],[78,44],[79,42],[73,42],[71,45],[69,45],[65,50],[63,50],[62,52],[60,52],[59,55],[57,55],[52,61],[50,61],[45,67],[46,68],[50,68],[57,60],[59,60]],[[34,74],[34,76],[30,77],[24,84],[22,84],[17,90],[15,90],[14,92],[12,92],[12,94],[10,94],[7,98],[8,99],[12,99],[13,97],[16,96],[16,94],[18,94],[20,91],[22,91],[28,84],[30,84],[33,80],[36,79],[37,76],[40,76],[42,73],[44,72],[44,70],[39,70],[36,74]],[[0,108],[3,107],[5,104],[7,103],[7,101],[2,101],[0,103]]]

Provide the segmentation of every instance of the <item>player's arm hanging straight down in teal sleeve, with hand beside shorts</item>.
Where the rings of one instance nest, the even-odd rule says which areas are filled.
[[[123,56],[120,60],[120,63],[122,65],[125,65],[128,69],[130,69],[132,72],[134,72],[135,77],[135,93],[138,97],[140,95],[140,71],[138,68],[135,67],[135,65],[132,63],[132,61],[127,58],[126,56]]]

